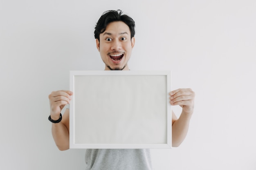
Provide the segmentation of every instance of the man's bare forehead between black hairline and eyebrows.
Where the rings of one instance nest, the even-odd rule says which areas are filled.
[[[106,26],[106,30],[100,35],[120,35],[124,33],[130,35],[129,26],[122,21],[115,21],[115,22],[110,22]]]

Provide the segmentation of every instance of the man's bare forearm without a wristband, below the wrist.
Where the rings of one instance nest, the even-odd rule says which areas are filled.
[[[192,114],[182,112],[179,119],[172,125],[172,146],[178,147],[184,141]]]

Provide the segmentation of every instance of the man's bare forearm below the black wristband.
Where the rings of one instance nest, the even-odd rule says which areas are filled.
[[[62,122],[52,124],[52,136],[59,150],[69,149],[69,132]]]

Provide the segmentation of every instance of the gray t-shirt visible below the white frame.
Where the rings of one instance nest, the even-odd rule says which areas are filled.
[[[87,149],[85,170],[152,170],[149,149]]]

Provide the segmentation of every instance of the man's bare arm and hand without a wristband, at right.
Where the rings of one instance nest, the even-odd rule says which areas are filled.
[[[184,141],[189,130],[189,122],[193,114],[195,93],[190,89],[177,89],[170,93],[170,104],[180,105],[182,113],[177,119],[172,113],[172,146],[178,147]]]

